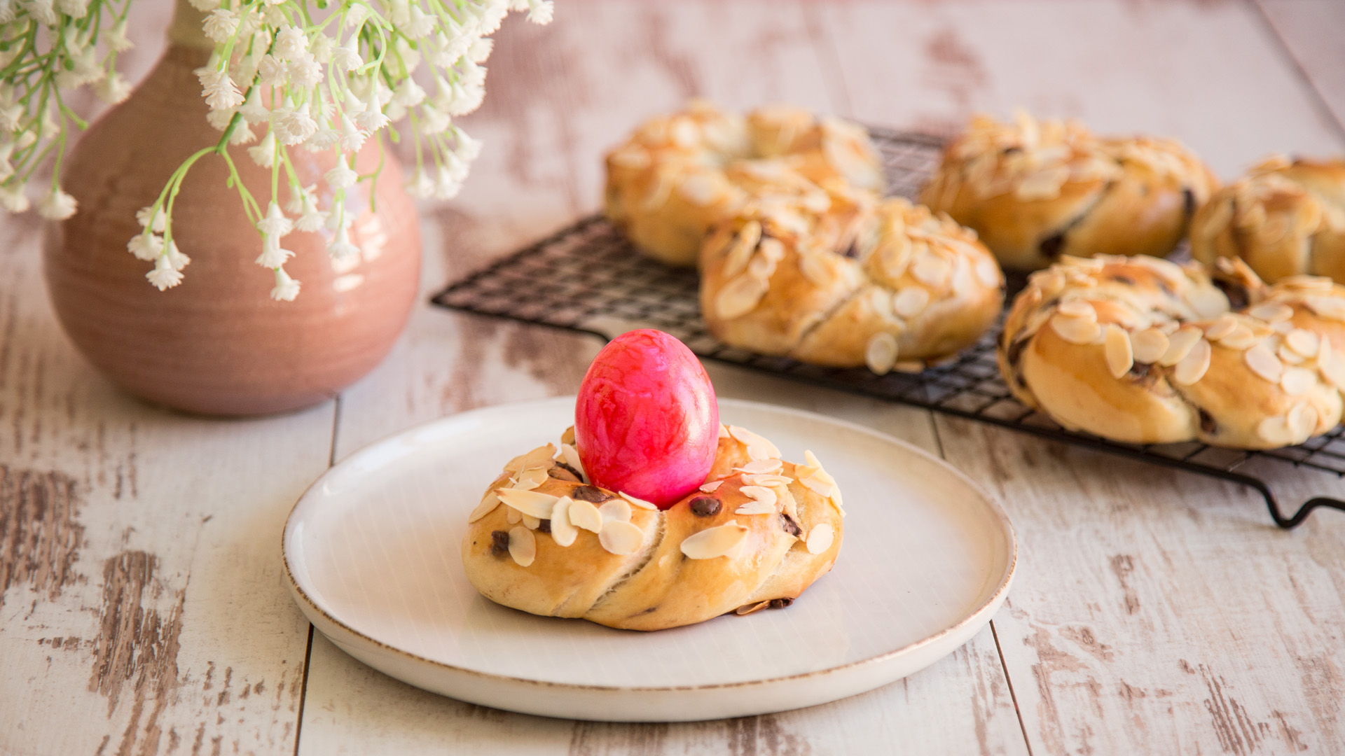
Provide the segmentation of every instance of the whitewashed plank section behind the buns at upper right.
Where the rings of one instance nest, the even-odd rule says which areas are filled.
[[[1024,106],[1104,133],[1178,137],[1225,178],[1270,152],[1340,149],[1336,124],[1243,3],[839,3],[819,12],[863,121],[951,133],[974,112]]]

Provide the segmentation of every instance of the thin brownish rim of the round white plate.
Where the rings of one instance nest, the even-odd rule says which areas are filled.
[[[960,471],[956,467],[954,467],[952,464],[950,464],[947,460],[943,460],[943,459],[935,456],[933,453],[931,453],[931,452],[928,452],[925,449],[921,449],[920,447],[917,447],[917,445],[915,445],[915,444],[912,444],[909,441],[905,441],[902,439],[897,439],[896,436],[890,436],[888,433],[884,433],[884,432],[877,430],[874,428],[869,428],[866,425],[859,425],[858,422],[853,422],[850,420],[842,420],[842,418],[830,417],[830,416],[826,416],[826,414],[822,414],[822,413],[818,413],[818,412],[811,412],[811,410],[806,410],[806,409],[796,409],[796,408],[777,405],[777,404],[771,404],[771,402],[760,402],[760,401],[753,401],[753,400],[738,400],[738,398],[729,398],[729,397],[717,397],[717,402],[721,404],[721,405],[726,402],[730,406],[732,405],[738,405],[738,406],[745,406],[745,408],[749,408],[749,409],[765,409],[765,410],[769,410],[769,412],[779,412],[779,413],[784,413],[784,414],[792,414],[792,416],[796,416],[796,417],[806,417],[806,418],[810,418],[810,420],[822,420],[822,421],[833,424],[833,425],[839,425],[839,426],[842,426],[842,428],[845,428],[847,430],[857,430],[857,432],[859,432],[859,433],[862,433],[865,436],[873,436],[873,437],[877,437],[877,439],[880,439],[882,441],[894,443],[898,447],[904,447],[905,451],[913,452],[915,455],[917,455],[920,457],[924,457],[927,461],[931,461],[931,463],[933,463],[937,467],[943,467],[947,472],[951,472],[955,478],[960,479],[963,483],[966,483],[967,486],[970,486],[974,491],[976,491],[978,494],[981,494],[982,499],[987,504],[990,504],[990,511],[994,514],[994,519],[1001,525],[1001,527],[1003,529],[1003,531],[1005,531],[1005,534],[1007,537],[1007,541],[1009,541],[1009,543],[1007,543],[1009,545],[1009,561],[1007,561],[1007,566],[1005,568],[1003,573],[999,577],[999,582],[995,587],[995,589],[990,593],[990,596],[985,601],[982,601],[979,605],[976,605],[976,608],[972,609],[967,616],[964,616],[959,621],[956,621],[956,623],[954,623],[954,624],[951,624],[951,626],[940,630],[939,632],[936,632],[933,635],[929,635],[929,636],[925,636],[925,638],[921,638],[920,640],[915,640],[915,642],[908,643],[905,646],[901,646],[898,648],[893,648],[890,651],[884,651],[882,654],[877,654],[874,656],[869,656],[869,658],[865,658],[865,659],[858,659],[858,660],[854,660],[854,662],[847,662],[845,665],[830,666],[830,667],[826,667],[826,669],[822,669],[822,670],[812,670],[812,671],[807,671],[807,673],[799,673],[799,674],[791,674],[791,675],[780,675],[780,677],[772,677],[772,678],[761,678],[761,679],[751,679],[751,681],[740,681],[740,682],[714,682],[714,683],[705,683],[705,685],[625,686],[625,685],[588,685],[588,683],[553,682],[553,681],[545,681],[545,679],[531,679],[531,678],[512,677],[512,675],[506,675],[506,674],[487,673],[487,671],[482,671],[482,670],[473,670],[473,669],[469,669],[469,667],[460,667],[457,665],[451,665],[448,662],[440,662],[437,659],[430,659],[428,656],[422,656],[420,654],[414,654],[414,652],[408,651],[405,648],[398,648],[397,646],[389,646],[387,643],[383,643],[382,640],[378,640],[377,638],[369,636],[369,635],[366,635],[366,634],[355,630],[354,627],[346,624],[340,619],[338,619],[338,617],[332,616],[330,612],[327,612],[327,609],[324,609],[323,607],[320,607],[317,604],[317,601],[315,601],[303,589],[303,587],[299,585],[299,581],[295,578],[295,574],[291,570],[291,564],[289,564],[291,554],[289,554],[289,549],[286,547],[288,543],[289,543],[291,533],[292,533],[293,526],[295,526],[295,513],[299,511],[300,504],[304,503],[304,500],[308,498],[308,495],[312,494],[313,491],[316,491],[317,487],[321,486],[327,480],[327,478],[331,476],[336,471],[336,468],[339,465],[350,463],[355,457],[367,453],[370,449],[374,449],[375,447],[381,447],[383,444],[387,444],[387,443],[394,441],[397,439],[401,439],[404,436],[410,436],[410,434],[413,434],[416,432],[424,430],[425,428],[428,428],[430,425],[438,425],[438,424],[443,424],[445,421],[459,421],[459,420],[463,420],[463,418],[468,418],[471,416],[486,414],[486,413],[492,412],[492,410],[499,410],[500,408],[529,408],[529,406],[547,405],[547,404],[573,402],[574,398],[576,398],[574,394],[568,394],[568,395],[561,395],[561,397],[547,397],[547,398],[543,398],[543,400],[529,400],[529,401],[521,401],[521,402],[502,402],[502,404],[496,404],[496,405],[488,405],[488,406],[469,409],[469,410],[465,410],[465,412],[457,412],[457,413],[453,413],[453,414],[447,414],[444,417],[438,417],[438,418],[434,418],[434,420],[428,420],[425,422],[418,422],[418,424],[412,425],[409,428],[404,428],[402,430],[398,430],[395,433],[391,433],[389,436],[378,439],[377,441],[370,441],[369,444],[364,444],[364,445],[359,447],[358,449],[355,449],[354,452],[351,452],[350,455],[347,455],[344,459],[342,459],[336,464],[328,467],[325,471],[323,471],[321,475],[317,476],[316,480],[313,480],[307,488],[304,488],[304,492],[300,494],[299,499],[295,500],[293,507],[291,507],[289,514],[285,517],[285,527],[281,529],[281,534],[280,534],[281,566],[284,568],[284,570],[285,570],[285,578],[289,582],[289,592],[301,604],[305,604],[308,608],[316,611],[319,615],[323,616],[323,619],[325,619],[327,621],[332,623],[334,626],[336,626],[338,628],[340,628],[346,634],[354,635],[355,638],[358,638],[358,639],[360,639],[360,640],[363,640],[366,643],[371,643],[371,644],[374,644],[378,648],[385,650],[385,651],[391,651],[391,652],[394,652],[397,655],[401,655],[401,656],[404,656],[404,658],[406,658],[406,659],[409,659],[412,662],[421,663],[421,665],[432,665],[434,667],[438,667],[441,670],[447,670],[447,671],[451,671],[451,673],[455,673],[455,674],[467,674],[467,675],[486,678],[486,679],[491,679],[491,681],[496,681],[496,682],[502,682],[502,683],[507,683],[507,685],[527,685],[527,686],[535,686],[535,687],[541,687],[541,689],[592,690],[592,691],[603,691],[603,693],[668,693],[668,691],[694,691],[694,690],[729,690],[729,689],[740,689],[740,687],[756,687],[756,686],[767,686],[767,685],[779,685],[779,683],[787,683],[787,682],[802,682],[802,681],[806,681],[808,678],[820,677],[820,675],[831,675],[831,674],[835,674],[835,673],[841,673],[841,671],[846,671],[846,670],[853,670],[853,669],[858,669],[858,667],[881,666],[884,662],[890,660],[894,656],[898,656],[898,655],[902,655],[902,654],[908,654],[911,651],[915,651],[915,650],[919,650],[919,648],[923,648],[923,647],[927,647],[927,646],[932,646],[932,644],[937,643],[940,639],[943,639],[943,638],[946,638],[948,635],[952,635],[952,634],[955,634],[955,632],[966,628],[968,624],[976,621],[978,617],[981,617],[981,615],[983,615],[985,612],[987,612],[987,611],[998,607],[1003,601],[1005,596],[1009,592],[1009,588],[1013,584],[1013,578],[1017,574],[1017,570],[1018,570],[1018,534],[1017,534],[1017,531],[1013,527],[1013,522],[1009,519],[1009,513],[1005,511],[1003,504],[999,502],[999,499],[997,496],[991,495],[990,491],[987,491],[979,483],[976,483],[975,480],[972,480],[967,474],[964,474],[963,471]],[[304,612],[304,613],[307,615],[307,612]],[[323,635],[327,635],[327,634],[323,632]],[[335,643],[335,639],[332,639],[332,640]],[[386,673],[383,673],[383,674],[386,674]]]

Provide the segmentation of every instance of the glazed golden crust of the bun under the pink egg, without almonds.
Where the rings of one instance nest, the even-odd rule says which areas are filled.
[[[741,429],[733,430],[752,439]],[[749,448],[757,452],[759,464],[775,467],[776,472],[738,469],[753,461]],[[820,465],[763,460],[768,456],[760,453],[763,448],[777,455],[768,443],[748,447],[725,429],[709,476],[718,484],[710,486],[710,492],[686,496],[666,511],[629,507],[629,523],[639,530],[640,542],[624,556],[612,553],[599,534],[584,529],[562,546],[554,522],[530,523],[510,506],[483,504],[473,513],[476,519],[463,539],[467,577],[483,596],[499,604],[623,630],[663,630],[733,611],[748,613],[772,603],[788,605],[835,561],[843,535],[839,491]],[[577,491],[589,498],[611,496],[597,504],[616,502],[616,510],[625,511],[627,500],[569,480],[574,475],[561,465],[546,472],[546,479],[530,491],[549,498],[573,498]],[[516,472],[512,476],[521,478]],[[507,471],[491,484],[487,499],[511,486]],[[761,488],[769,494],[761,494]],[[702,506],[701,514],[694,513],[691,503],[698,498],[717,500],[718,510],[706,513]],[[740,507],[756,507],[761,514],[738,514]],[[482,508],[488,511],[482,514]],[[510,531],[521,527],[531,534],[523,538],[535,543],[533,554],[525,554],[522,561],[512,550],[496,545],[502,538],[498,533],[508,539]],[[690,547],[689,538],[712,529],[732,531],[737,545],[726,554]]]

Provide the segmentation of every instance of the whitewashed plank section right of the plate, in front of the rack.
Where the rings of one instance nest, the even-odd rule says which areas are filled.
[[[1034,753],[1345,749],[1345,517],[1282,533],[1235,484],[936,422],[1018,530],[995,627]],[[1274,472],[1287,500],[1345,496]]]

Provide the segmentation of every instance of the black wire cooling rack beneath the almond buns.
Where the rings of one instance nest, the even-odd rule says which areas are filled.
[[[913,199],[939,164],[942,140],[877,128],[870,133],[882,155],[892,194]],[[1010,277],[1009,293],[1015,293],[1022,284],[1021,277]],[[1267,480],[1245,469],[1262,467],[1248,463],[1266,459],[1287,463],[1286,468],[1293,465],[1345,476],[1345,426],[1299,447],[1267,452],[1223,449],[1198,443],[1118,444],[1069,432],[1009,393],[995,365],[998,327],[951,362],[916,374],[874,375],[863,369],[816,367],[729,347],[705,328],[695,273],[636,254],[601,215],[582,218],[449,285],[433,301],[465,312],[582,331],[605,339],[632,328],[659,328],[682,339],[702,358],[1232,480],[1259,491],[1275,525],[1283,529],[1298,526],[1317,507],[1345,511],[1345,502],[1317,496],[1284,517]]]

